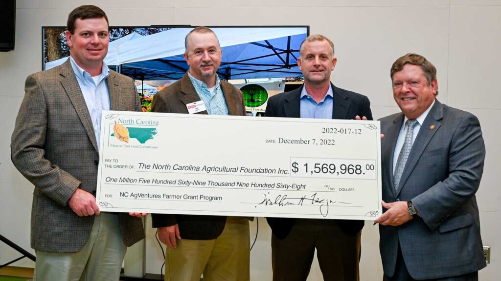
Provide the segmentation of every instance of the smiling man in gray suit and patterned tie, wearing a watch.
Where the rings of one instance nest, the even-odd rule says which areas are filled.
[[[399,57],[390,73],[402,112],[381,118],[383,280],[478,280],[480,123],[436,99],[436,69],[423,56]]]

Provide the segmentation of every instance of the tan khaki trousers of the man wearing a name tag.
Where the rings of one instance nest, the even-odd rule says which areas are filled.
[[[219,237],[180,239],[167,248],[165,281],[199,281],[202,273],[204,281],[248,281],[249,248],[248,219],[228,216]]]

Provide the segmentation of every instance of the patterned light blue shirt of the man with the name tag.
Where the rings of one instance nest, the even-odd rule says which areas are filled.
[[[222,93],[221,81],[217,75],[216,84],[212,90],[207,88],[206,83],[193,77],[189,71],[188,76],[193,84],[193,87],[198,93],[198,96],[201,100],[203,100],[205,108],[209,114],[228,115],[228,106],[226,105],[226,99],[224,99],[224,95]]]

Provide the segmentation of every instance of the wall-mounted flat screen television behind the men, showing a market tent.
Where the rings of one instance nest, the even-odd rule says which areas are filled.
[[[111,69],[136,80],[144,111],[151,109],[158,90],[180,79],[188,70],[183,57],[184,37],[194,27],[110,26],[105,62]],[[283,92],[286,82],[302,80],[297,58],[309,26],[209,27],[217,34],[222,48],[217,74],[240,88],[249,114],[263,113],[268,98]],[[65,26],[42,28],[42,69],[68,59],[65,29]]]

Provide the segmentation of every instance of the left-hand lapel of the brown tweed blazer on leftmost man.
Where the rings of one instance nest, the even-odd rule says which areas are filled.
[[[69,59],[65,63],[63,63],[60,75],[63,76],[63,79],[61,79],[61,84],[66,90],[66,93],[68,94],[73,107],[75,107],[75,111],[77,111],[78,117],[80,118],[80,121],[84,126],[85,132],[87,132],[87,136],[91,140],[94,149],[99,152],[96,135],[94,134],[94,126],[92,125],[91,115],[89,114],[89,108],[87,108],[84,95],[82,94],[82,90],[80,89],[80,85],[78,84],[77,76],[75,76],[75,72],[71,67],[71,62]]]

